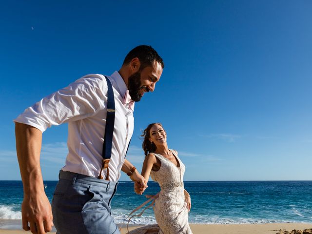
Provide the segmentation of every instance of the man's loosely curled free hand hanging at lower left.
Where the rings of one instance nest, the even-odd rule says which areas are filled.
[[[44,192],[34,197],[24,197],[21,216],[25,231],[30,230],[33,234],[45,234],[52,230],[51,204]]]

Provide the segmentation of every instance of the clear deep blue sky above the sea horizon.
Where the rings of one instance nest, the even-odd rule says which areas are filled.
[[[112,74],[139,44],[165,69],[136,104],[137,168],[140,131],[161,122],[185,180],[312,180],[311,11],[308,0],[2,2],[0,180],[20,179],[15,117],[85,74]],[[67,125],[44,132],[44,179],[58,178],[66,140]]]

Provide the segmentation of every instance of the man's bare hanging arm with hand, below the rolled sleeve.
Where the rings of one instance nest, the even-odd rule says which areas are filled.
[[[16,122],[15,136],[24,189],[22,226],[33,234],[44,234],[52,230],[53,216],[51,204],[44,193],[40,168],[42,133],[37,128]]]

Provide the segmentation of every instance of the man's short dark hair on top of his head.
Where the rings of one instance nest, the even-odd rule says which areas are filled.
[[[126,56],[122,65],[127,65],[132,59],[138,58],[140,60],[140,70],[142,71],[145,67],[152,66],[153,62],[159,62],[161,67],[164,68],[164,62],[161,57],[157,54],[156,50],[150,45],[139,45],[132,49]]]

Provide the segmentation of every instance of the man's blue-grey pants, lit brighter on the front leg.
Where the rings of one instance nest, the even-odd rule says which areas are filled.
[[[110,206],[117,184],[60,171],[52,199],[57,234],[120,234]]]

